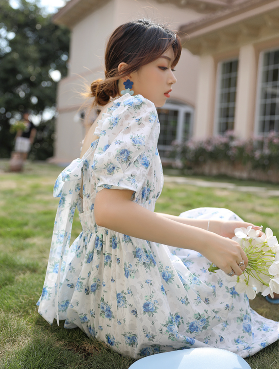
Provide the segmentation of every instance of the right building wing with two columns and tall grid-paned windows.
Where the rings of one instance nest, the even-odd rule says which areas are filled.
[[[180,31],[200,56],[193,137],[278,132],[279,1],[232,1]]]

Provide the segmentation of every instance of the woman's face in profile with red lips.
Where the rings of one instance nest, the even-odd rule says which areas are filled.
[[[156,107],[163,106],[166,99],[170,97],[173,83],[176,82],[171,69],[174,59],[175,55],[170,46],[160,58],[131,73],[134,95],[142,95],[152,101]]]

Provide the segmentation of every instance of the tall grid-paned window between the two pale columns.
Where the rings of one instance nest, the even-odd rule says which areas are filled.
[[[221,62],[217,90],[216,131],[222,134],[234,129],[238,59]]]

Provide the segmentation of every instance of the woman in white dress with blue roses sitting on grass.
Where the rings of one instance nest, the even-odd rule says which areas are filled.
[[[147,20],[111,35],[106,78],[91,85],[104,106],[97,127],[54,186],[61,199],[39,313],[133,358],[207,346],[245,357],[278,338],[278,323],[252,311],[223,273],[247,266],[230,238],[250,223],[225,209],[154,213],[163,182],[155,107],[176,82],[180,52],[174,32]],[[76,205],[83,232],[68,251]],[[211,262],[223,272],[208,272]]]

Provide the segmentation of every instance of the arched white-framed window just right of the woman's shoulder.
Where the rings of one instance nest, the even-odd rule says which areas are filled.
[[[168,101],[157,111],[161,125],[158,151],[162,158],[166,158],[173,141],[183,142],[192,135],[194,109],[190,105]]]

